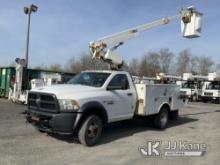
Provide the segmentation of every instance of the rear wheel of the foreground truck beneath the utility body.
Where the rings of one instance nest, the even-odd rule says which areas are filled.
[[[165,129],[168,123],[169,114],[166,107],[162,107],[160,112],[154,117],[154,127],[157,129]]]

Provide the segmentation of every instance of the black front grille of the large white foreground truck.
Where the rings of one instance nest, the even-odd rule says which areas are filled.
[[[45,112],[58,112],[59,110],[55,95],[38,92],[28,93],[28,108]]]

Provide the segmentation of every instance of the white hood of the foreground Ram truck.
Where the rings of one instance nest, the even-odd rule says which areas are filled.
[[[96,92],[101,88],[85,86],[85,85],[73,85],[73,84],[62,84],[62,85],[52,85],[47,87],[40,87],[32,89],[31,92],[41,92],[41,93],[51,93],[55,94],[58,99],[65,98],[76,98],[80,97],[84,92]]]

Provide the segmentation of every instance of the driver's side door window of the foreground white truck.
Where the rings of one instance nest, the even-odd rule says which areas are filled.
[[[109,86],[120,87],[121,90],[129,89],[129,83],[125,74],[118,74],[110,81]]]

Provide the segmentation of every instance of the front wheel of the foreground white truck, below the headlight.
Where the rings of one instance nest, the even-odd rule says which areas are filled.
[[[85,146],[93,146],[98,142],[101,133],[101,119],[97,115],[90,115],[84,120],[78,132],[78,139]]]

